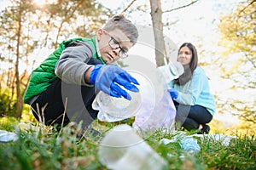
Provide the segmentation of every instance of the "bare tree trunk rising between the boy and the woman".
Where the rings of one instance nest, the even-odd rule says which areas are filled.
[[[165,65],[166,46],[164,41],[162,8],[160,0],[150,0],[151,19],[154,31],[154,53],[157,66]]]

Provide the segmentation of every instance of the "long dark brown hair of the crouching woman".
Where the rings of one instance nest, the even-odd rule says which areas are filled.
[[[184,73],[174,80],[174,83],[177,83],[179,85],[184,85],[186,82],[189,82],[191,77],[193,76],[193,72],[195,71],[195,68],[198,64],[198,56],[195,46],[190,42],[183,43],[182,46],[178,49],[178,52],[181,48],[188,47],[192,53],[192,59],[189,63],[189,65],[183,65],[184,66]]]

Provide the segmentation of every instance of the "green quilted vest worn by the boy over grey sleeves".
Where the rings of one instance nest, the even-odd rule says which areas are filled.
[[[49,54],[49,57],[44,60],[44,62],[38,66],[35,70],[32,71],[30,82],[27,85],[26,93],[24,95],[24,103],[29,104],[32,97],[41,94],[49,87],[51,82],[56,79],[55,75],[55,65],[60,59],[62,51],[67,48],[67,45],[73,41],[83,41],[90,44],[90,47],[93,50],[93,58],[101,59],[96,53],[96,37],[84,38],[76,37],[69,39],[67,41],[61,42],[58,48],[52,54]],[[103,62],[103,61],[102,61]],[[103,62],[104,63],[104,62]]]

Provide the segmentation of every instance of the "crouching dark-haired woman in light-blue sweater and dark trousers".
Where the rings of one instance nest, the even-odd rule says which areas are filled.
[[[189,42],[183,43],[178,50],[177,61],[184,67],[183,75],[168,84],[177,110],[177,125],[187,130],[200,129],[201,133],[209,133],[207,123],[212,121],[215,104],[207,76],[198,66],[195,46]]]

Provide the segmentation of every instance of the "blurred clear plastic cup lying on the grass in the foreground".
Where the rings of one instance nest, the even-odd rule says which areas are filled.
[[[163,170],[168,167],[168,161],[126,124],[106,133],[99,145],[98,156],[103,165],[113,170]]]

